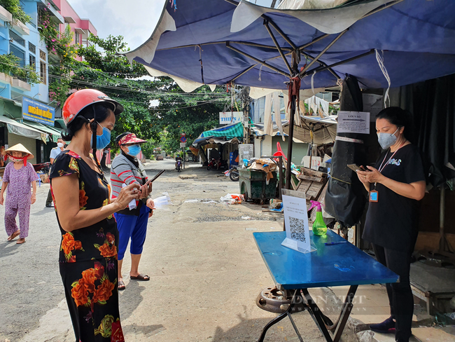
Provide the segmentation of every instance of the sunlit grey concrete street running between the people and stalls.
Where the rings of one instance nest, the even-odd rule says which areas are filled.
[[[221,196],[239,184],[222,171],[197,164],[178,174],[174,160],[148,163],[149,175],[166,169],[153,187],[169,193],[172,205],[156,210],[148,224],[139,271],[149,282],[130,281],[130,257],[123,266],[120,316],[126,341],[255,341],[275,317],[255,305],[272,285],[253,241],[253,231],[282,229],[280,214],[260,205],[225,205]],[[196,175],[180,179],[180,175]],[[223,175],[223,177],[218,177]],[[58,272],[59,231],[55,213],[44,208],[48,185],[38,188],[27,243],[0,242],[0,341],[73,342],[74,336]],[[213,200],[213,202],[211,202]],[[3,207],[0,208],[3,214]],[[2,215],[3,217],[3,215]],[[336,319],[338,305],[327,289],[315,290]],[[305,341],[324,341],[307,313],[296,315]],[[297,341],[288,320],[266,341]],[[344,341],[357,341],[346,329]]]

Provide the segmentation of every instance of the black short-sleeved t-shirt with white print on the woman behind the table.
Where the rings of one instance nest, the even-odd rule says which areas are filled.
[[[407,184],[425,180],[417,146],[408,144],[402,146],[393,158],[392,154],[388,149],[374,165],[379,170],[381,163],[386,163],[382,175]],[[374,183],[370,184],[370,190],[374,190]],[[362,238],[384,248],[412,252],[418,233],[419,201],[398,195],[379,183],[376,190],[379,201],[368,205]]]

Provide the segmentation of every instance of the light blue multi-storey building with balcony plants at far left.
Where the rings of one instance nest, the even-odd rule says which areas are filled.
[[[31,66],[39,75],[40,81],[34,85],[27,83],[10,72],[0,73],[0,149],[21,143],[35,158],[31,163],[48,160],[52,142],[60,136],[59,130],[49,121],[41,124],[22,118],[22,99],[26,97],[35,104],[32,111],[49,104],[49,53],[38,32],[38,13],[49,8],[52,21],[64,24],[64,18],[45,0],[21,0],[20,5],[30,22],[23,23],[13,20],[11,13],[0,7],[0,54],[11,53],[19,58],[20,67]],[[6,62],[5,62],[6,63]],[[38,110],[38,109],[36,109]],[[42,114],[42,111],[41,111]]]

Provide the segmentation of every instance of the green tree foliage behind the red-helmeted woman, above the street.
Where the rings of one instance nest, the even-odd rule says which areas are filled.
[[[78,50],[85,62],[73,68],[71,86],[86,88],[91,83],[123,104],[125,112],[118,118],[113,139],[121,132],[134,132],[150,141],[148,148],[160,145],[167,152],[177,151],[182,132],[186,133],[189,146],[204,130],[218,123],[218,112],[223,111],[228,100],[225,90],[219,88],[211,93],[205,86],[188,95],[172,78],[140,79],[148,72],[142,64],[130,64],[119,54],[129,50],[122,36],[102,39],[91,35],[89,41],[91,46]]]

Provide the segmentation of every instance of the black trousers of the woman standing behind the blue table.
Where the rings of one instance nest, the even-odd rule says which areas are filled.
[[[395,251],[373,244],[376,259],[391,271],[400,276],[400,282],[386,284],[388,302],[393,319],[395,319],[395,340],[408,342],[412,336],[412,314],[414,313],[414,298],[409,282],[411,253]]]

